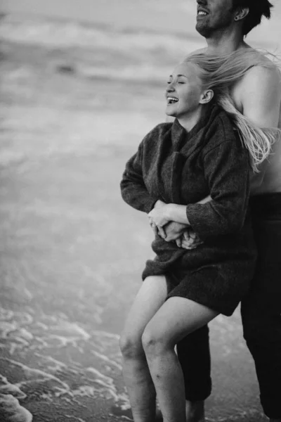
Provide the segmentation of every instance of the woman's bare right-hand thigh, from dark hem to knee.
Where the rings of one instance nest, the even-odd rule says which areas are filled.
[[[218,312],[187,298],[173,297],[164,302],[145,328],[149,342],[174,347],[185,335],[206,325]]]

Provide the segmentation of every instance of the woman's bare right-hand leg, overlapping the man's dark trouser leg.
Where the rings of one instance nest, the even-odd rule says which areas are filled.
[[[218,315],[185,298],[169,298],[143,333],[143,347],[164,422],[185,422],[183,372],[174,347],[185,335]]]

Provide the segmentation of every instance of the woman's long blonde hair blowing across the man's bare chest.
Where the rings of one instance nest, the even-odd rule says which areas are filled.
[[[257,166],[268,158],[271,146],[279,138],[281,131],[273,127],[260,128],[244,117],[235,108],[230,88],[254,66],[275,70],[275,63],[254,49],[243,49],[221,56],[192,53],[183,63],[197,65],[203,89],[214,91],[214,100],[230,116],[242,143],[249,150],[251,168],[254,172],[259,172]]]

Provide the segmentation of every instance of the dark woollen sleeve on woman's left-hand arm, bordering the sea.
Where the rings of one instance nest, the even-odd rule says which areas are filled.
[[[126,163],[120,187],[122,198],[127,204],[136,210],[148,213],[159,198],[150,196],[143,181],[143,142],[138,147],[137,153]]]

